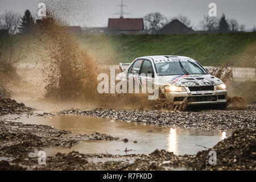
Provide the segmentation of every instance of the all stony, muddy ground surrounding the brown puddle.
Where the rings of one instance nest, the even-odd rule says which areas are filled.
[[[255,170],[255,113],[256,106],[246,110],[205,110],[205,111],[142,111],[142,110],[68,110],[58,114],[82,114],[109,117],[123,121],[166,125],[170,127],[194,127],[205,130],[240,129],[232,137],[218,142],[212,149],[217,152],[217,164],[208,163],[209,150],[197,155],[174,155],[165,150],[151,154],[109,155],[109,154],[56,154],[47,157],[46,165],[39,165],[37,157],[29,152],[51,146],[72,147],[79,140],[122,140],[106,134],[93,133],[73,135],[46,125],[24,125],[23,123],[0,121],[0,170]],[[1,114],[27,113],[33,109],[14,100],[2,99]],[[42,114],[48,115],[48,113]],[[0,119],[1,120],[1,119]],[[121,121],[120,121],[121,122]],[[243,129],[242,129],[243,128]],[[241,130],[242,129],[242,130]],[[123,142],[123,141],[120,141]]]

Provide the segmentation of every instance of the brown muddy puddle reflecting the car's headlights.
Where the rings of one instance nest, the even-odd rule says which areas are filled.
[[[220,140],[232,135],[232,131],[203,131],[178,129],[163,126],[140,125],[137,123],[114,121],[108,118],[86,117],[83,115],[53,115],[38,117],[26,115],[5,115],[25,124],[50,125],[74,134],[92,134],[94,131],[113,137],[127,138],[129,142],[106,140],[83,140],[72,148],[45,148],[47,156],[57,152],[79,151],[83,154],[149,154],[156,148],[174,152],[176,155],[193,155],[198,151],[212,148]],[[138,143],[134,143],[136,140]],[[203,147],[204,146],[204,147]],[[125,150],[131,150],[125,152]],[[37,152],[31,156],[37,156]]]

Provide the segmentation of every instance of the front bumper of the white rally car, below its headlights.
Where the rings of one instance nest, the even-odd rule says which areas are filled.
[[[185,89],[186,92],[166,92],[167,98],[177,105],[185,101],[188,101],[188,105],[225,104],[227,102],[227,91],[217,90],[217,86],[214,86],[214,90],[206,91],[191,92],[188,87]]]

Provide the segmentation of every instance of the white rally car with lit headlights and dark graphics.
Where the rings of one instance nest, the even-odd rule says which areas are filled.
[[[133,77],[139,85],[157,77],[160,92],[170,95],[168,98],[174,104],[188,101],[189,105],[219,104],[225,107],[227,102],[225,84],[190,57],[144,56],[131,64],[120,63],[119,68],[122,71],[119,77]],[[151,79],[144,76],[148,73],[151,73]]]

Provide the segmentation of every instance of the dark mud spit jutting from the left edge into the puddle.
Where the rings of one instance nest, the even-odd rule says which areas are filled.
[[[53,146],[72,147],[80,140],[122,140],[118,137],[94,132],[73,135],[47,125],[30,125],[20,122],[0,121],[0,156],[7,158],[26,157],[35,149]]]

